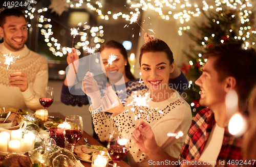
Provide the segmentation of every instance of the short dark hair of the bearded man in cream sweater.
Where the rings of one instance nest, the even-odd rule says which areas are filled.
[[[11,8],[11,9],[5,9],[0,13],[0,26],[4,28],[5,19],[8,16],[17,16],[17,17],[24,17],[25,21],[27,21],[27,18],[25,17],[24,13],[18,9]]]

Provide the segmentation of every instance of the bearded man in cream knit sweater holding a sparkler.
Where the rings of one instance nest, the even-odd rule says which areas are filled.
[[[28,38],[25,15],[13,8],[3,10],[0,35],[4,38],[0,44],[0,108],[42,108],[39,96],[42,87],[48,84],[48,64],[25,45]],[[19,58],[8,67],[4,64],[7,56]]]

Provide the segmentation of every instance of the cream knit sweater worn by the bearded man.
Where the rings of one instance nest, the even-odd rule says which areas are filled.
[[[4,64],[5,57],[8,54],[16,58],[15,63],[7,70]],[[0,108],[19,108],[36,110],[42,108],[39,103],[41,88],[48,84],[48,64],[44,57],[31,51],[24,46],[20,51],[10,51],[4,43],[0,44]],[[28,77],[29,87],[26,91],[20,92],[19,88],[9,85],[9,77],[13,72],[25,72]]]

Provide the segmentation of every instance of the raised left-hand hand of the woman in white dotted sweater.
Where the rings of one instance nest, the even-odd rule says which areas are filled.
[[[92,77],[90,71],[86,73],[82,80],[82,91],[92,100],[91,109],[97,109],[101,105],[101,97],[97,81]]]

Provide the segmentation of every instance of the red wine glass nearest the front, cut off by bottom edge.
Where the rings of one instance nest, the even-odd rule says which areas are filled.
[[[127,152],[129,151],[127,148],[130,144],[130,135],[129,134],[119,134],[117,130],[114,130],[110,135],[109,143],[108,143],[108,152],[111,159],[114,162],[114,167],[116,167],[116,163],[126,157]],[[127,147],[127,148],[126,148]]]

